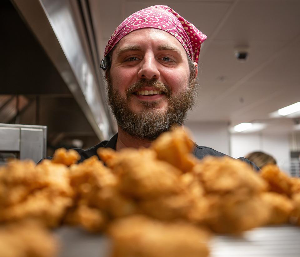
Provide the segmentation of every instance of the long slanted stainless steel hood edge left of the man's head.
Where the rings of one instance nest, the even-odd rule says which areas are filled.
[[[12,1],[59,71],[100,140],[107,139],[110,125],[100,87],[95,79],[86,35],[75,17],[75,1]]]

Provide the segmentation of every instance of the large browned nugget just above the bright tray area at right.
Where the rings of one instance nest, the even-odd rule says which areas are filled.
[[[245,198],[238,194],[209,194],[207,200],[206,224],[216,233],[240,234],[266,224],[270,215],[259,195]]]

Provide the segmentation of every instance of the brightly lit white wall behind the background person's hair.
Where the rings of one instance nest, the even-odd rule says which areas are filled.
[[[231,134],[230,152],[234,158],[246,156],[253,151],[272,155],[280,169],[289,172],[290,148],[288,134]]]

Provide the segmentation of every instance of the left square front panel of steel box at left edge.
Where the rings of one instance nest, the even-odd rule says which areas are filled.
[[[20,150],[20,129],[2,127],[0,124],[0,151]]]

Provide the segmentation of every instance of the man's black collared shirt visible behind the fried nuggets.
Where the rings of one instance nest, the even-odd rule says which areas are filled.
[[[78,163],[83,162],[85,159],[88,159],[94,155],[97,155],[97,149],[100,147],[104,148],[112,148],[116,150],[116,144],[117,144],[117,139],[118,139],[118,133],[114,135],[109,141],[104,140],[97,144],[96,146],[93,146],[87,150],[83,150],[80,148],[74,148],[74,150],[78,151],[80,154],[81,159],[78,161]],[[196,156],[198,159],[203,159],[205,156],[217,156],[217,157],[222,157],[222,156],[227,156],[226,154],[223,154],[221,152],[218,152],[210,147],[206,146],[198,146],[196,143],[194,143],[194,156]],[[47,157],[47,159],[51,159],[52,157]],[[99,157],[98,157],[99,158]],[[238,160],[247,162],[248,164],[252,165],[257,171],[260,169],[252,162],[247,160],[244,157],[238,158]]]

